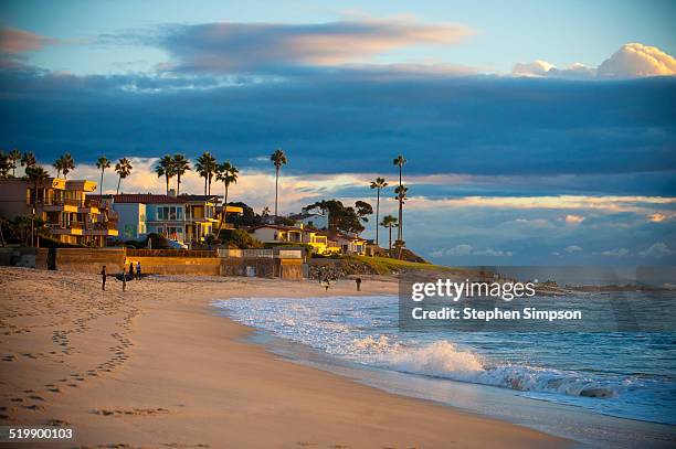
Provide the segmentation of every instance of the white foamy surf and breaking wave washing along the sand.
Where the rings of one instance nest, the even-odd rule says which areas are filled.
[[[667,395],[674,392],[673,382],[496,362],[467,344],[443,338],[443,332],[416,335],[398,332],[397,320],[392,318],[395,304],[394,298],[382,297],[235,299],[219,303],[237,321],[357,363],[509,388],[529,397],[580,405],[600,413],[672,421],[665,420],[659,410],[674,405],[659,396],[665,386]],[[389,316],[383,316],[383,310],[389,310]],[[500,351],[508,353],[509,348],[500,346]],[[603,400],[609,398],[615,399]]]

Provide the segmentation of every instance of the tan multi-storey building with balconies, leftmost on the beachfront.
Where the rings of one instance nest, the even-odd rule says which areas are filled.
[[[34,214],[59,242],[102,247],[108,237],[118,235],[118,215],[87,197],[96,185],[94,181],[49,178],[35,190],[28,180],[1,179],[0,216],[14,220]]]

